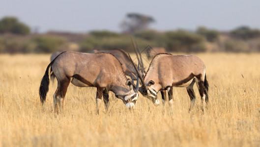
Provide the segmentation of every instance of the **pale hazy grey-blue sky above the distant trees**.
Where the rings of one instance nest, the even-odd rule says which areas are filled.
[[[157,30],[206,26],[231,30],[260,28],[260,0],[0,0],[0,18],[16,16],[40,32],[120,31],[129,12],[152,16]]]

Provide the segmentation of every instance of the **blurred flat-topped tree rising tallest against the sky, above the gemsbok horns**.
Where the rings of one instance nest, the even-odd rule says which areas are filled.
[[[155,20],[150,16],[145,16],[138,13],[129,13],[126,15],[127,19],[123,20],[120,24],[123,32],[135,33],[137,31],[144,31],[148,25],[154,23]]]

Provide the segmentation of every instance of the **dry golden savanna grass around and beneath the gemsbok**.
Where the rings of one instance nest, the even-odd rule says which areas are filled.
[[[111,95],[95,113],[95,88],[70,84],[64,110],[54,117],[50,83],[46,103],[38,96],[50,54],[0,55],[0,146],[161,147],[260,146],[260,54],[196,54],[206,65],[209,104],[204,114],[195,85],[196,105],[188,113],[185,88],[174,88],[174,105],[155,107],[139,97],[129,111]],[[160,97],[160,96],[159,96]]]

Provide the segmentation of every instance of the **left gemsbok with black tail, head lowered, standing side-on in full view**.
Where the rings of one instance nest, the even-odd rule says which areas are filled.
[[[131,109],[138,98],[138,91],[133,91],[132,82],[127,79],[121,63],[110,53],[83,53],[64,51],[48,66],[41,80],[39,95],[42,104],[49,90],[49,68],[58,80],[58,87],[53,95],[54,111],[58,114],[58,105],[63,109],[63,100],[69,83],[78,87],[96,87],[96,111],[103,95],[106,110],[109,108],[109,91],[115,93]],[[138,83],[138,82],[137,82]]]

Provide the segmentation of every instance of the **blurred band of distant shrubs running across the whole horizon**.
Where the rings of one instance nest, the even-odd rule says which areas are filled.
[[[226,37],[223,39],[223,36]],[[150,45],[163,47],[169,52],[260,51],[260,30],[247,26],[224,35],[201,26],[194,32],[182,29],[166,32],[145,30],[132,34],[132,37],[137,40],[141,50]],[[52,53],[58,50],[90,52],[93,49],[114,48],[133,52],[131,36],[112,31],[91,31],[84,35],[65,32],[30,34],[29,27],[16,18],[0,20],[0,53]]]

